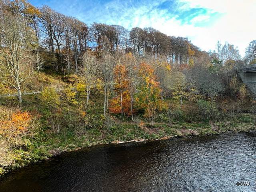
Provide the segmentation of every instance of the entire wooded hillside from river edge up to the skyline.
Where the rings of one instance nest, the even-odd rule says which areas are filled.
[[[256,40],[241,58],[0,0],[0,173],[100,143],[248,132],[256,102],[238,69],[255,63]]]

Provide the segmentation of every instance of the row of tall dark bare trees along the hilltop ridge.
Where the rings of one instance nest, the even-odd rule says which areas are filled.
[[[96,22],[88,26],[49,6],[35,8],[25,0],[4,1],[2,9],[24,17],[26,24],[34,30],[37,49],[59,54],[60,66],[56,66],[56,70],[62,72],[69,69],[65,64],[70,62],[70,57],[78,72],[78,58],[86,50],[93,50],[99,56],[103,50],[116,52],[120,49],[136,56],[161,55],[171,64],[193,63],[194,58],[201,56],[200,49],[188,38],[167,36],[154,28],[136,27],[129,31],[120,25]],[[52,58],[52,63],[54,62]]]

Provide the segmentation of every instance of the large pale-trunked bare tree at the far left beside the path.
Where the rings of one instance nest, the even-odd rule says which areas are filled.
[[[18,93],[19,102],[22,102],[20,83],[29,78],[31,70],[31,50],[36,42],[36,35],[28,27],[21,15],[13,15],[4,10],[0,11],[0,61],[5,66],[10,78],[0,78],[11,84]]]

